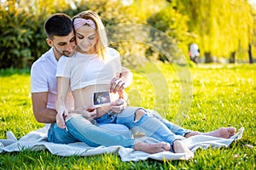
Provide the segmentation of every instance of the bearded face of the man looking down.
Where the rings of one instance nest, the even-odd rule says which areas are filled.
[[[56,59],[60,59],[62,55],[66,55],[67,57],[73,55],[74,48],[76,47],[73,31],[68,36],[55,36],[52,41],[47,38],[47,42],[50,47],[54,48]]]

